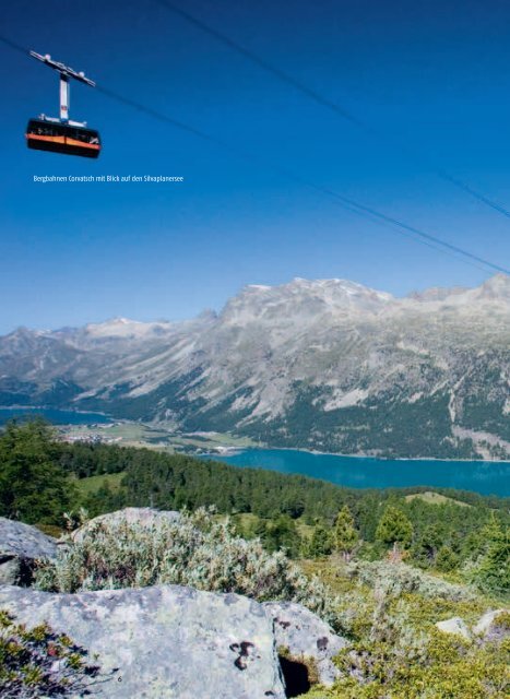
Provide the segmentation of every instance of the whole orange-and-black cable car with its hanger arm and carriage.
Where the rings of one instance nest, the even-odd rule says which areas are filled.
[[[35,151],[98,157],[100,153],[99,132],[95,129],[90,129],[86,122],[71,121],[69,119],[69,79],[73,78],[92,87],[95,86],[95,83],[85,78],[85,73],[76,73],[69,66],[51,60],[49,55],[40,56],[35,51],[31,51],[31,56],[60,74],[60,119],[46,117],[45,115],[31,119],[25,132],[27,146]]]

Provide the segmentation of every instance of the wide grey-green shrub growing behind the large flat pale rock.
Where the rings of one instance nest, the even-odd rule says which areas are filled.
[[[292,600],[335,624],[335,601],[317,578],[308,579],[284,553],[265,552],[259,540],[235,536],[228,520],[203,508],[153,525],[92,522],[36,571],[36,587],[51,592],[170,583]]]

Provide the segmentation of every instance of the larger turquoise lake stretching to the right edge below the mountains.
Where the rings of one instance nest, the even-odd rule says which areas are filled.
[[[236,466],[298,473],[353,488],[424,485],[510,496],[510,463],[502,462],[380,460],[290,449],[247,449],[209,458]]]

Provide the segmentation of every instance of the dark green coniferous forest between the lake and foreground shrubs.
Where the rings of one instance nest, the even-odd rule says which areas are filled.
[[[192,511],[212,506],[233,516],[245,537],[260,536],[270,549],[283,547],[296,558],[319,558],[334,549],[335,522],[346,509],[356,548],[367,559],[399,542],[407,561],[451,572],[499,545],[510,524],[508,498],[452,489],[435,494],[430,497],[425,487],[343,488],[186,454],[69,445],[41,420],[12,423],[0,437],[0,516],[46,528],[63,526],[63,512],[80,508],[95,517],[123,507]],[[505,536],[500,546],[508,553]],[[509,585],[508,568],[490,583],[479,574],[481,584],[494,591]]]

